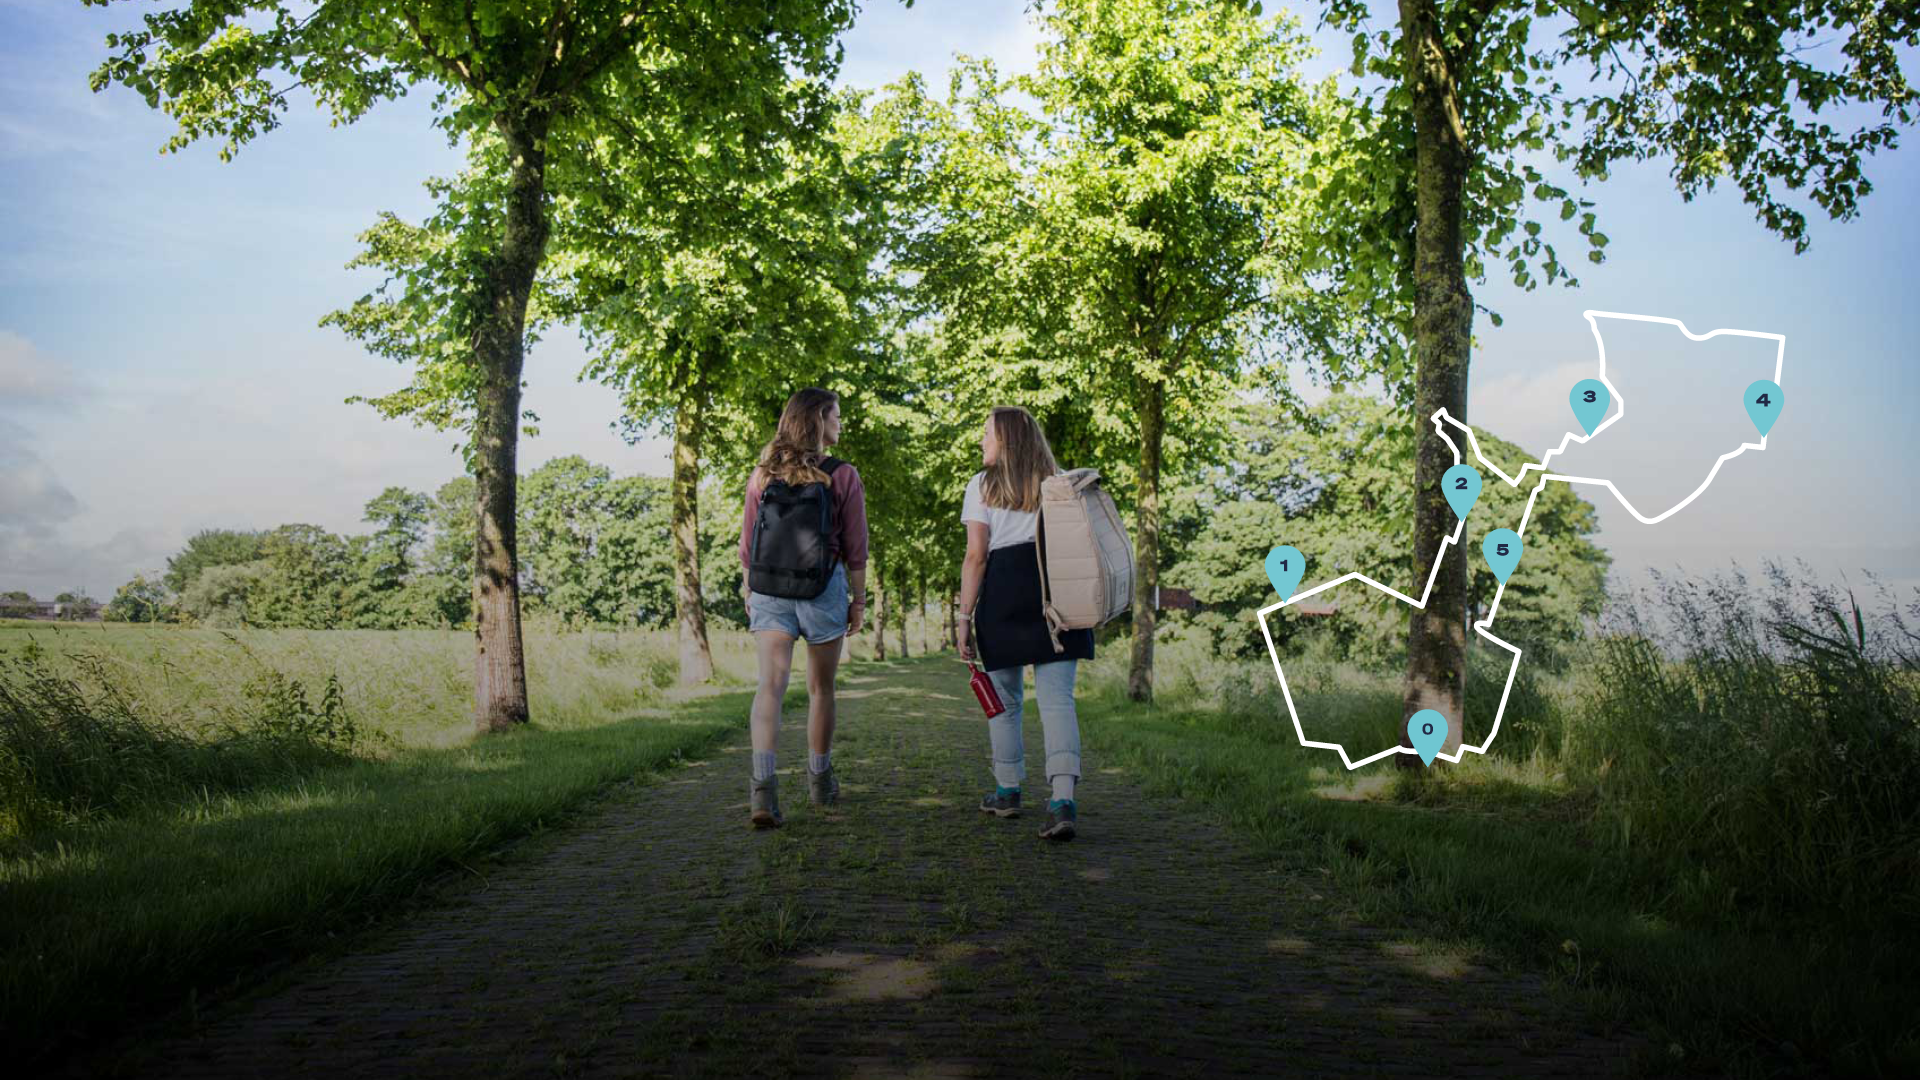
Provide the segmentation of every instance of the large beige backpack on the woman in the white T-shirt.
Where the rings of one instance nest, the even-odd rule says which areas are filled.
[[[1133,544],[1094,469],[1041,482],[1041,611],[1054,651],[1060,630],[1104,626],[1133,607]]]

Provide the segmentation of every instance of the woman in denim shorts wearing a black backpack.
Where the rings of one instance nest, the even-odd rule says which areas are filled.
[[[755,828],[778,828],[783,821],[774,748],[795,638],[806,638],[808,796],[820,807],[839,799],[833,675],[841,638],[860,632],[866,611],[866,490],[852,465],[828,457],[839,434],[839,396],[801,390],[787,400],[774,438],[747,479],[739,565],[747,573],[747,626],[760,659],[749,784]]]

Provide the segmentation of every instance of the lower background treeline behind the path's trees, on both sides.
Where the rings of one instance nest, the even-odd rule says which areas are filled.
[[[1413,498],[1404,477],[1413,455],[1413,423],[1373,398],[1334,394],[1311,409],[1265,400],[1240,402],[1229,465],[1192,465],[1171,484],[1164,509],[1162,580],[1198,600],[1190,623],[1225,655],[1258,651],[1248,613],[1273,600],[1261,559],[1273,544],[1294,544],[1311,559],[1309,578],[1348,569],[1411,575],[1405,536]],[[1482,432],[1500,457],[1521,450]],[[856,461],[858,463],[858,461]],[[868,490],[891,500],[895,484],[925,484],[870,469]],[[710,617],[745,625],[739,498],[745,477],[708,479],[701,488],[701,592]],[[960,532],[960,492],[935,492],[920,521],[920,544],[893,544],[893,559],[912,559],[887,577],[883,615],[950,601],[956,565],[939,544],[943,527]],[[1488,484],[1475,511],[1475,536],[1519,521],[1524,494]],[[945,511],[939,507],[952,503]],[[945,517],[941,517],[945,513]],[[612,477],[605,465],[557,457],[520,480],[520,575],[530,615],[563,625],[670,626],[674,567],[666,479]],[[269,530],[209,528],[167,561],[163,577],[136,577],[108,605],[108,619],[175,621],[207,626],[407,628],[467,626],[474,546],[472,479],[432,496],[388,488],[367,503],[369,532],[336,536],[313,525]],[[1599,611],[1607,555],[1588,538],[1594,507],[1565,486],[1548,488],[1528,527],[1528,557],[1507,584],[1501,632],[1536,648],[1571,640]],[[952,536],[948,536],[950,540]],[[1471,540],[1471,538],[1469,538]],[[1463,544],[1475,550],[1475,544]],[[1471,600],[1482,609],[1494,578],[1478,567]],[[912,586],[912,588],[908,588]],[[874,586],[876,592],[881,584]],[[897,603],[893,592],[906,601]],[[1346,590],[1315,636],[1338,655],[1396,657],[1405,617],[1375,594]],[[1275,632],[1302,632],[1283,619]],[[1317,630],[1325,628],[1325,634]],[[1549,650],[1551,651],[1551,650]]]

